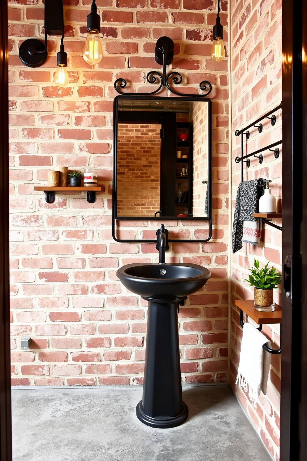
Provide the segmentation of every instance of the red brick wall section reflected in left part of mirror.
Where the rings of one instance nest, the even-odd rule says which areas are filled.
[[[160,210],[161,125],[118,124],[117,216]]]

